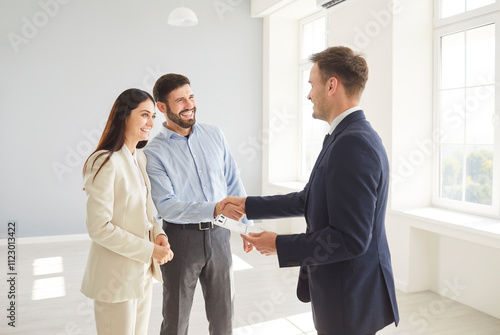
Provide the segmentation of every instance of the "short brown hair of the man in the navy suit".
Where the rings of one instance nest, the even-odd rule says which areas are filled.
[[[359,54],[347,47],[336,46],[313,54],[310,59],[318,64],[323,83],[335,77],[344,86],[348,97],[361,97],[368,80],[368,64]]]

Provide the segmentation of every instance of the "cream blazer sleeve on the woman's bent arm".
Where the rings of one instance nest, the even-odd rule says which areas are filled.
[[[113,205],[116,201],[114,193],[116,171],[113,160],[108,160],[96,175],[106,156],[107,154],[101,155],[95,160],[95,164],[93,164],[94,159],[89,159],[85,174],[89,236],[94,242],[117,254],[142,263],[149,263],[154,244],[113,223]]]

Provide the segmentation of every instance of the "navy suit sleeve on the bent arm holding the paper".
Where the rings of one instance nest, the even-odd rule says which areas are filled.
[[[323,222],[309,222],[320,227],[316,231],[277,237],[282,267],[345,261],[370,245],[382,167],[364,138],[337,141],[324,168],[327,215]]]

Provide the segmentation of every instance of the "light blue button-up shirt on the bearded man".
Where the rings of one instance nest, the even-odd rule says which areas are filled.
[[[162,127],[144,148],[151,195],[161,218],[172,223],[212,221],[218,201],[246,197],[222,131],[194,124],[189,138]],[[244,223],[253,225],[246,217]]]

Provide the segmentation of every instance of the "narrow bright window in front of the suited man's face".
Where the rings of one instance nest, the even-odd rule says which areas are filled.
[[[319,155],[328,125],[312,118],[312,103],[307,99],[311,89],[309,72],[312,64],[309,57],[326,48],[326,17],[316,14],[299,22],[299,113],[300,156],[298,180],[307,181]]]

